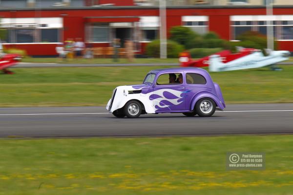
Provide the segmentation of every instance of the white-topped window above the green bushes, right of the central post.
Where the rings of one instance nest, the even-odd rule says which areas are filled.
[[[208,16],[183,16],[182,25],[189,27],[196,33],[206,34],[209,27],[209,17]]]

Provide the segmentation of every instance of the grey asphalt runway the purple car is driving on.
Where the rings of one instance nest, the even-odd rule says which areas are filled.
[[[291,134],[293,104],[231,104],[213,117],[116,118],[105,107],[0,108],[0,137],[136,137]]]

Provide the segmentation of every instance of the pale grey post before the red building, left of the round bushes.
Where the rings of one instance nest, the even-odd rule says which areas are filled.
[[[160,58],[167,58],[166,0],[160,0]]]

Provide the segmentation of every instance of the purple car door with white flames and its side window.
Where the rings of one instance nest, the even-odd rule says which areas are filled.
[[[163,73],[158,75],[153,86],[153,93],[150,99],[153,101],[153,106],[156,113],[182,111],[186,109],[185,104],[185,84],[184,81],[169,82],[169,75],[175,74],[178,77],[183,72]]]

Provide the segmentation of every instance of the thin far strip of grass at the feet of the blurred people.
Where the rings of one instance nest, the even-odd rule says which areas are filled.
[[[60,60],[57,58],[24,58],[22,62],[29,63],[70,63],[70,64],[117,64],[117,63],[179,63],[178,59],[134,59],[129,62],[127,59],[119,59],[114,62],[113,59],[67,59]]]

